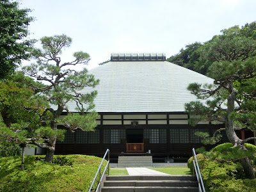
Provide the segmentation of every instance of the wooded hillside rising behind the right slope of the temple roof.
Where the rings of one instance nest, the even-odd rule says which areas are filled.
[[[195,42],[186,45],[185,49],[180,49],[178,54],[171,56],[167,61],[209,76],[209,67],[214,61],[236,61],[238,58],[246,60],[255,55],[255,31],[256,22],[247,23],[241,28],[234,26],[223,29],[223,35],[213,36],[212,40],[204,44]]]

